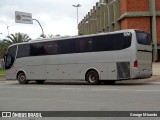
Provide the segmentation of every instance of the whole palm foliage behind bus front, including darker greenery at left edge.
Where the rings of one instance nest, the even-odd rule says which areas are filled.
[[[0,43],[0,58],[4,57],[9,45],[20,42],[28,42],[30,40],[31,38],[27,34],[23,33],[15,33],[7,36],[7,38]]]

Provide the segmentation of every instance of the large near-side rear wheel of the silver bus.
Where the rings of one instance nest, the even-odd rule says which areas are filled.
[[[99,84],[99,74],[95,70],[87,72],[86,81],[91,85]]]

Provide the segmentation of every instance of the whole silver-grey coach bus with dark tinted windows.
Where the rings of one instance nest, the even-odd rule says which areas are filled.
[[[148,33],[122,30],[11,45],[5,56],[6,79],[85,80],[113,84],[117,80],[152,76],[152,45]]]

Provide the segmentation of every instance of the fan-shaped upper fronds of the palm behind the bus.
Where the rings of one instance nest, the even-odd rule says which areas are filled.
[[[4,42],[7,42],[9,45],[13,43],[20,43],[20,42],[28,42],[31,38],[27,34],[23,33],[15,33],[7,36],[8,39],[4,39]]]

